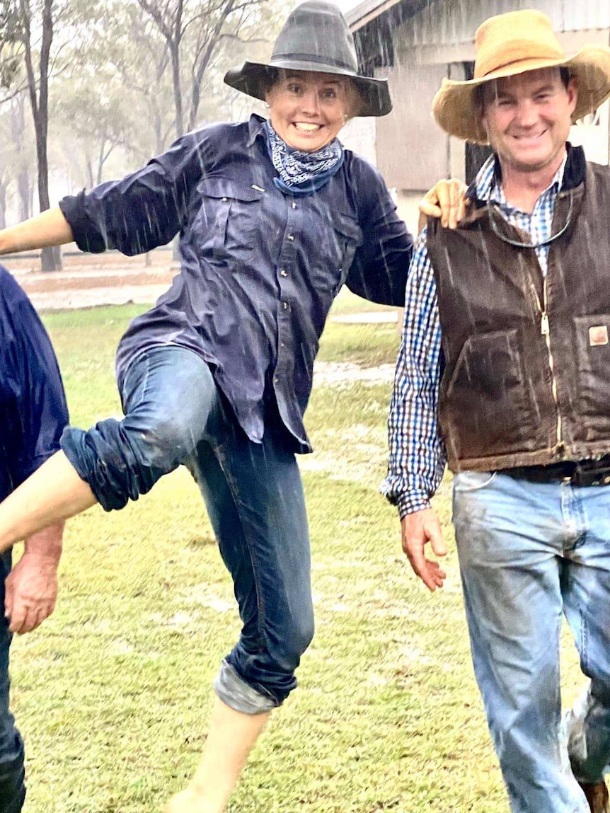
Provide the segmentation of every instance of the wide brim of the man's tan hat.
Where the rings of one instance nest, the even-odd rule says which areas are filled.
[[[577,76],[578,99],[573,121],[597,110],[610,97],[610,48],[585,46],[573,57],[565,59],[524,59],[489,73],[481,79],[457,81],[443,79],[434,96],[432,112],[438,124],[451,136],[474,144],[488,144],[486,129],[481,121],[476,89],[486,82],[517,76],[545,67],[566,67]]]

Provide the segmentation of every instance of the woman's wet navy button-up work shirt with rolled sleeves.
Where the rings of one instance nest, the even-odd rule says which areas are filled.
[[[264,120],[253,115],[188,133],[124,180],[59,205],[85,251],[138,254],[180,233],[181,272],[121,340],[119,386],[143,350],[189,348],[252,441],[275,398],[305,452],[303,412],[333,298],[345,283],[402,306],[413,241],[379,172],[350,150],[312,195],[285,195],[274,176]]]

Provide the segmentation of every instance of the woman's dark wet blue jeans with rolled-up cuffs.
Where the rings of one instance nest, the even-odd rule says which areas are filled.
[[[214,686],[228,706],[259,714],[294,689],[313,636],[303,488],[283,427],[262,444],[239,427],[210,368],[190,350],[155,347],[125,377],[122,421],[68,428],[64,453],[107,511],[149,491],[181,463],[207,505],[242,618]]]

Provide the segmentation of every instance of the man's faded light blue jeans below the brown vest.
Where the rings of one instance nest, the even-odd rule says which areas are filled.
[[[474,671],[512,811],[588,813],[576,779],[601,780],[610,756],[610,487],[462,472],[453,520]],[[564,722],[563,614],[590,678]]]

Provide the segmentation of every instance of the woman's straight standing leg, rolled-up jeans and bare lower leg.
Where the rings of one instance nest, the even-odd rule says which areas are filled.
[[[294,689],[313,635],[309,535],[294,454],[269,429],[255,444],[228,420],[199,446],[191,468],[243,627],[214,683],[201,762],[166,813],[222,813],[270,711]]]

